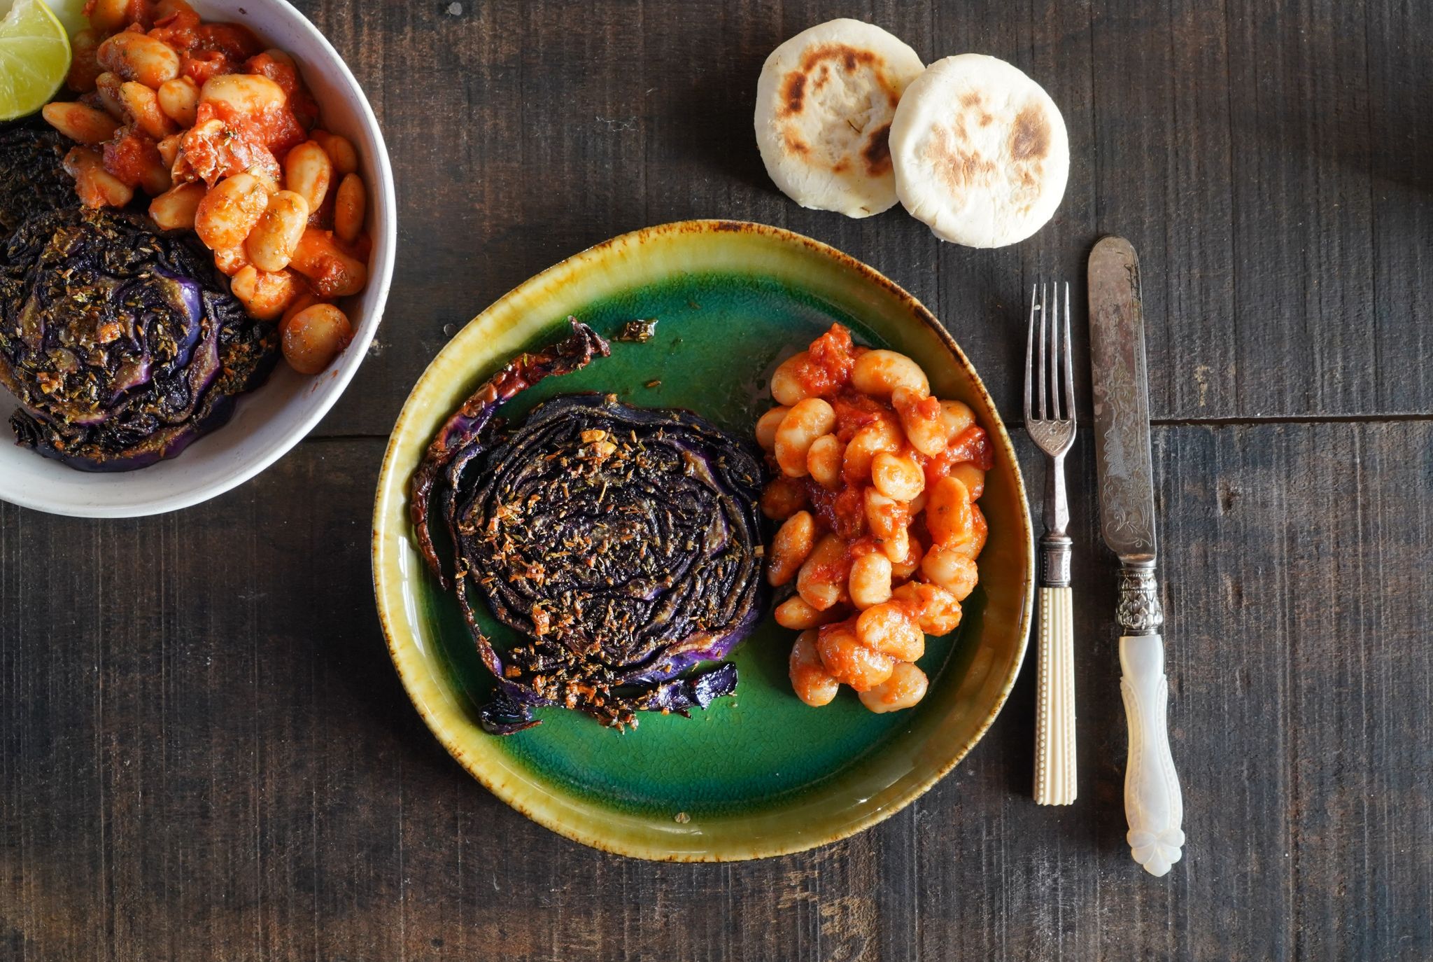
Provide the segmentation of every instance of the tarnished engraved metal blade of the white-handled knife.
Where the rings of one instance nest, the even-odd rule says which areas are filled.
[[[1155,486],[1149,459],[1149,377],[1139,258],[1122,237],[1089,255],[1089,354],[1095,463],[1105,543],[1121,561],[1155,561]]]

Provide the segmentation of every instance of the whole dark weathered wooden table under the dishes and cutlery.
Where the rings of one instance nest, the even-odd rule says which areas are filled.
[[[138,520],[0,508],[0,958],[1433,956],[1426,11],[299,6],[353,65],[393,152],[387,317],[314,436],[229,495]],[[927,59],[992,53],[1045,85],[1073,155],[1049,227],[973,251],[898,209],[848,221],[774,191],[751,133],[761,63],[845,13]],[[692,216],[778,224],[884,271],[946,321],[1012,433],[1029,282],[1082,292],[1101,234],[1135,242],[1189,837],[1168,877],[1123,842],[1115,563],[1088,433],[1072,469],[1069,809],[1030,800],[1029,668],[916,804],[759,863],[580,847],[428,735],[368,572],[378,459],[408,387],[523,278]],[[1026,470],[1039,490],[1042,465]]]

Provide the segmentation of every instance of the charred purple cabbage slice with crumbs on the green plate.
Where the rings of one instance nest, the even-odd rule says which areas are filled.
[[[535,371],[567,373],[606,354],[590,328],[573,330],[479,389],[414,476],[424,556],[446,578],[424,533],[423,489],[437,482],[459,602],[499,681],[481,708],[496,734],[537,724],[536,705],[618,727],[635,725],[639,711],[706,707],[735,691],[735,665],[684,672],[724,658],[765,605],[762,469],[742,442],[689,411],[600,394],[557,397],[512,430],[483,430],[516,393],[496,384],[526,386]],[[477,604],[524,641],[499,651]]]

